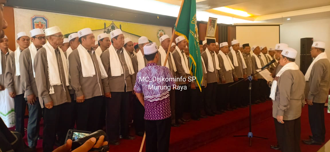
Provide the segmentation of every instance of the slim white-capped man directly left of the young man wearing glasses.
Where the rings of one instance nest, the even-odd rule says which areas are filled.
[[[23,50],[29,47],[30,38],[25,32],[19,32],[16,37],[16,42],[18,47],[15,52],[9,54],[6,63],[5,88],[8,89],[9,95],[14,98],[15,101],[15,130],[20,132],[24,137],[24,114],[26,101],[24,99],[24,89],[20,81],[19,55]]]

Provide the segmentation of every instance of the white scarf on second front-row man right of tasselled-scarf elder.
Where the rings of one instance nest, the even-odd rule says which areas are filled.
[[[128,55],[127,51],[123,48],[124,58],[126,65],[128,67],[129,74],[134,74],[134,69],[132,65],[132,61],[130,56]],[[111,76],[120,76],[124,73],[118,55],[116,53],[116,49],[113,45],[109,47],[109,54],[110,54],[110,69],[111,69]]]

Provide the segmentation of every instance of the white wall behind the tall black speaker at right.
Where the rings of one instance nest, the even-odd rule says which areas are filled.
[[[325,52],[330,59],[330,18],[283,23],[280,41],[298,51],[296,63],[300,66],[300,38],[314,38],[325,42]]]

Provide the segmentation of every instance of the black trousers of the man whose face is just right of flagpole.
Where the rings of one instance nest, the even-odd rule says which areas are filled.
[[[179,85],[179,86],[187,86],[187,85]],[[175,90],[175,119],[178,123],[178,120],[182,118],[183,110],[184,110],[184,102],[186,98],[186,92],[187,90],[182,89],[176,89]]]

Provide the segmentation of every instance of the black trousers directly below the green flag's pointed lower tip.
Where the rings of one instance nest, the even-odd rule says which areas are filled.
[[[196,89],[190,89],[190,95],[191,95],[190,117],[194,119],[200,118],[201,110],[202,110],[203,94],[201,90],[198,87],[196,87]]]

